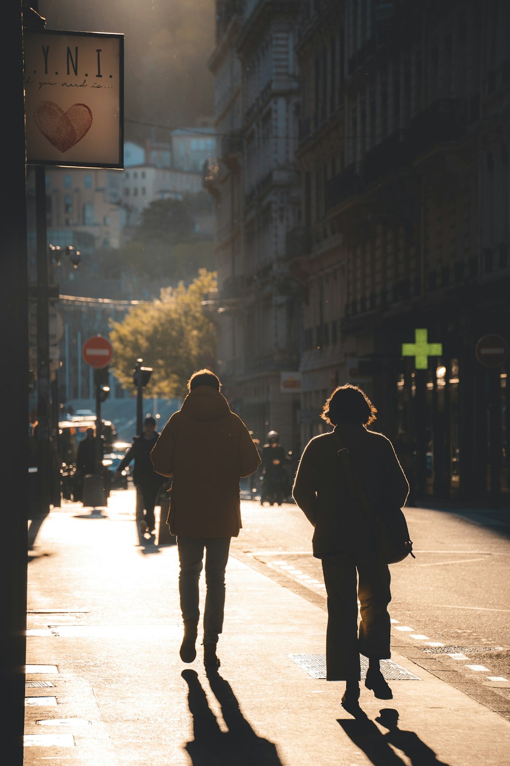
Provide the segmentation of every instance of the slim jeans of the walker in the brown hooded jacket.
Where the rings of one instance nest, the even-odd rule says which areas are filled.
[[[206,552],[206,604],[203,613],[203,643],[218,642],[225,611],[225,569],[229,560],[229,537],[183,537],[177,535],[179,551],[180,611],[183,620],[200,617],[198,581]]]

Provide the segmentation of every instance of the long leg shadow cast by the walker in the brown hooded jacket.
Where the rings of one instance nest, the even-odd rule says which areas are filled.
[[[193,740],[185,746],[193,766],[282,766],[276,746],[259,737],[239,709],[239,702],[229,682],[219,673],[208,675],[211,690],[221,705],[223,720],[229,731],[219,728],[210,709],[206,692],[194,670],[183,670],[181,676],[189,686],[188,705],[193,716]]]

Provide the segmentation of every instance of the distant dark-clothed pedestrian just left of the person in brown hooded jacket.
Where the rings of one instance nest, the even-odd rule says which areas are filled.
[[[159,434],[156,430],[156,421],[154,417],[146,417],[143,433],[133,440],[132,446],[125,453],[125,457],[117,467],[115,473],[120,474],[125,466],[128,466],[132,460],[135,461],[133,468],[133,483],[136,487],[136,516],[142,516],[145,521],[146,532],[153,534],[155,532],[156,521],[154,519],[154,506],[158,499],[158,492],[163,483],[159,473],[154,471],[151,462],[151,451],[158,441]]]

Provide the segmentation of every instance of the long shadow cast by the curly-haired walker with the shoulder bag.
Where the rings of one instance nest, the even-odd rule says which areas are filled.
[[[404,761],[390,747],[407,755],[412,766],[448,766],[438,761],[432,748],[422,741],[415,732],[404,732],[398,728],[398,711],[384,708],[375,719],[388,732],[383,734],[361,709],[355,719],[338,719],[339,725],[362,750],[375,766],[402,766]]]

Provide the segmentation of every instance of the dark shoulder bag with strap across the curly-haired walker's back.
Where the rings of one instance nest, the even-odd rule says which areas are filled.
[[[337,434],[332,434],[336,443],[336,454],[342,461],[349,494],[353,500],[358,499],[369,522],[378,558],[383,564],[396,564],[403,561],[409,554],[413,558],[413,543],[409,539],[408,523],[401,508],[391,508],[388,511],[375,512],[368,497],[362,489],[352,470],[349,450],[339,444]]]

